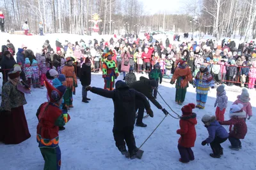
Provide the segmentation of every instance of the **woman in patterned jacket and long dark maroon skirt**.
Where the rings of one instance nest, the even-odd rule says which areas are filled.
[[[24,93],[18,90],[21,69],[10,71],[3,85],[0,112],[0,141],[18,144],[30,138],[23,105],[27,104]]]

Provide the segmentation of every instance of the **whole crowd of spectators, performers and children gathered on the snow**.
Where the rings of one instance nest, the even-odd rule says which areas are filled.
[[[168,38],[163,42],[161,39],[154,39],[150,34],[145,34],[145,39],[127,34],[121,38],[114,35],[108,41],[93,41],[85,43],[81,39],[72,44],[68,41],[61,43],[56,39],[56,49],[53,49],[49,40],[46,40],[35,54],[26,45],[20,46],[16,51],[10,40],[7,41],[7,45],[2,46],[3,92],[0,120],[3,124],[0,125],[3,127],[0,128],[0,141],[17,144],[30,137],[23,109],[23,105],[26,104],[24,92],[28,92],[31,85],[33,88],[45,86],[48,102],[41,104],[36,113],[36,139],[45,160],[45,168],[60,169],[58,131],[64,130],[64,125],[70,120],[68,111],[74,108],[72,101],[79,78],[83,86],[83,103],[90,101],[87,97],[88,90],[113,99],[113,135],[116,147],[123,155],[134,159],[139,157],[140,152],[133,136],[134,124],[138,127],[147,127],[142,122],[145,109],[150,117],[154,117],[147,99],[163,111],[165,116],[168,115],[168,111],[156,99],[159,83],[162,83],[163,78],[170,78],[170,83],[176,83],[177,104],[183,104],[189,83],[196,88],[196,105],[188,104],[182,107],[180,129],[177,130],[177,134],[181,136],[178,145],[179,160],[186,163],[195,159],[191,150],[195,145],[197,124],[193,109],[205,108],[209,89],[214,89],[215,83],[223,84],[227,80],[227,85],[232,85],[239,82],[239,78],[241,87],[249,82],[248,88],[254,88],[254,42],[243,43],[238,49],[234,47],[233,41],[224,41],[221,47],[211,39],[202,41],[200,45],[193,39],[176,45],[170,43]],[[16,60],[13,57],[15,53]],[[104,89],[90,87],[92,72],[99,71],[102,71]],[[115,83],[116,78],[120,76],[119,73],[123,73],[125,82],[120,80]],[[134,73],[145,73],[148,78],[141,76],[137,81]],[[230,149],[242,148],[240,139],[244,139],[246,135],[246,118],[250,120],[252,117],[252,106],[248,91],[243,89],[241,96],[237,96],[237,101],[230,106],[231,119],[225,121],[224,114],[228,101],[225,86],[220,85],[216,91],[216,116],[205,115],[202,118],[209,131],[209,138],[202,141],[202,145],[209,143],[213,152],[210,154],[211,157],[220,158],[223,154],[220,143],[227,139],[231,143]],[[17,99],[13,96],[17,96]],[[19,115],[15,115],[17,113]],[[13,120],[14,115],[22,121]],[[15,126],[12,126],[13,124]],[[230,133],[228,134],[221,125],[230,125]],[[4,130],[10,126],[12,128],[8,128],[8,131]]]

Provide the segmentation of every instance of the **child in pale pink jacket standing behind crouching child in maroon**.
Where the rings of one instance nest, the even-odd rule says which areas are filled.
[[[249,101],[250,101],[249,93],[247,89],[243,89],[242,94],[237,96],[237,100],[234,101],[233,103],[233,104],[238,104],[238,103],[243,104],[244,106],[243,110],[246,113],[246,118],[248,117],[248,120],[250,120],[250,118],[252,117],[252,105]],[[246,118],[244,118],[244,121],[246,121]]]

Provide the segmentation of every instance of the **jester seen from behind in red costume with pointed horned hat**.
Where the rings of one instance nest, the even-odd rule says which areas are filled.
[[[45,81],[50,101],[40,105],[36,112],[38,125],[36,127],[36,141],[44,157],[44,169],[59,170],[61,166],[61,151],[59,146],[59,127],[65,125],[60,109],[62,97],[66,87],[61,85],[56,89]]]

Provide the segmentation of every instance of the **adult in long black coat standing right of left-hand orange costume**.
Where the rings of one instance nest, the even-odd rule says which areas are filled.
[[[82,96],[83,96],[83,103],[89,103],[88,101],[90,101],[89,98],[87,98],[87,91],[85,90],[85,88],[91,84],[92,81],[92,72],[91,72],[91,66],[92,66],[92,62],[91,60],[87,57],[84,60],[84,63],[82,65],[81,71],[80,71],[80,81],[81,84],[83,85],[83,89],[82,89]]]

